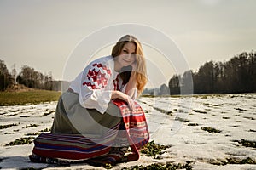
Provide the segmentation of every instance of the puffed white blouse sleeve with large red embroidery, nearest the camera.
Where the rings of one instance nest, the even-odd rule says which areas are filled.
[[[102,114],[107,110],[112,90],[109,88],[111,70],[108,65],[92,64],[84,69],[81,78],[79,102],[84,108],[96,109]]]

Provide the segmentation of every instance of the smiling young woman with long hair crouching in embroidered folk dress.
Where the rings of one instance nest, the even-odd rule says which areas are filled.
[[[137,149],[149,138],[143,110],[134,101],[146,75],[141,43],[131,35],[121,37],[110,56],[92,61],[61,95],[51,133],[35,139],[31,160],[137,160]],[[129,146],[135,155],[125,158]]]

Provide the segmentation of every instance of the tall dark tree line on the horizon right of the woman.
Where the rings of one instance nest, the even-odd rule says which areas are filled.
[[[208,61],[198,71],[175,74],[169,81],[169,90],[170,94],[256,92],[256,53],[244,52],[226,62]]]

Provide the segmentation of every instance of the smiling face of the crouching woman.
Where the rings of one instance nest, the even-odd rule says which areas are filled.
[[[131,65],[136,60],[136,46],[132,42],[125,43],[124,47],[121,50],[121,53],[118,56],[118,63],[121,67]]]

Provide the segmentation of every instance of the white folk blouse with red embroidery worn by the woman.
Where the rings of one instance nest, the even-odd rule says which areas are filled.
[[[119,72],[114,71],[112,56],[92,61],[78,77],[71,82],[69,88],[79,94],[79,103],[84,108],[96,109],[102,114],[107,110],[113,90],[125,93]],[[136,99],[137,92],[131,96]]]

